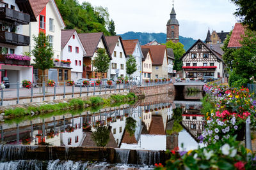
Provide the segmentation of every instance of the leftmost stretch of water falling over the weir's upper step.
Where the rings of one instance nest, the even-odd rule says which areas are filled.
[[[34,150],[37,146],[24,145],[0,145],[1,160],[17,160],[24,159],[27,150]]]

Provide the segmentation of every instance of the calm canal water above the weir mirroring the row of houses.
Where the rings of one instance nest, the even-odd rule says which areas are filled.
[[[186,95],[184,95],[186,96]],[[111,108],[98,113],[83,112],[80,115],[64,115],[52,118],[37,118],[20,124],[1,125],[1,143],[15,145],[52,146],[99,146],[99,138],[93,133],[106,127],[107,147],[136,150],[173,150],[181,146],[198,147],[197,137],[204,128],[201,104],[189,101],[166,101],[165,103],[138,103],[135,106]],[[180,110],[177,125],[175,111]],[[136,121],[134,133],[125,129],[128,117]],[[181,129],[180,129],[181,127]],[[177,130],[178,129],[178,130]],[[106,139],[106,138],[104,138]],[[101,146],[101,145],[100,145]],[[105,146],[105,144],[103,145]]]

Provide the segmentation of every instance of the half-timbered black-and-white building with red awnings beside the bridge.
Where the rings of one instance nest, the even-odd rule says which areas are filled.
[[[221,54],[200,39],[184,53],[182,64],[184,78],[202,78],[203,76],[220,78],[224,74]]]

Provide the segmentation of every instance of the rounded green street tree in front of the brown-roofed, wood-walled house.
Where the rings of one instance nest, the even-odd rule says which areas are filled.
[[[106,73],[109,68],[109,62],[110,62],[110,59],[108,54],[105,52],[105,49],[99,48],[97,52],[97,56],[92,61],[93,66],[96,68],[95,71],[99,72],[101,75],[102,73]]]

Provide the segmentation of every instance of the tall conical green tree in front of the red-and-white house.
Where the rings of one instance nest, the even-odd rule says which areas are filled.
[[[39,32],[38,36],[33,36],[35,41],[35,48],[32,50],[32,54],[35,57],[34,66],[44,71],[53,67],[52,57],[54,55],[52,46],[49,43],[49,36],[45,36],[44,32]]]

